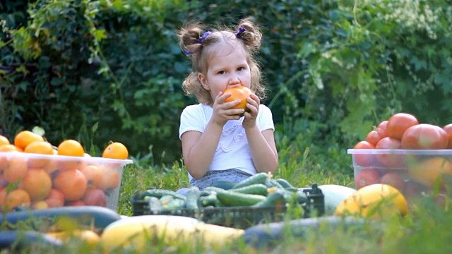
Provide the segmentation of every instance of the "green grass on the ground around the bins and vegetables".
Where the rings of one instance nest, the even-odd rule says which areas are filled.
[[[275,177],[286,179],[297,187],[310,187],[312,183],[354,186],[351,157],[345,148],[330,145],[321,149],[320,146],[304,143],[310,141],[279,147],[280,167]],[[174,191],[189,186],[182,161],[171,165],[154,165],[146,159],[133,159],[134,164],[124,168],[117,210],[119,214],[133,215],[132,198],[140,191],[150,187]],[[446,198],[445,205],[439,206],[426,198],[410,207],[410,213],[405,217],[384,217],[347,229],[324,224],[318,230],[308,230],[302,237],[293,236],[290,223],[287,223],[284,237],[270,248],[254,249],[240,240],[222,248],[208,249],[193,241],[169,245],[162,239],[150,239],[144,253],[451,253],[452,212],[448,202]],[[23,253],[86,253],[87,250],[85,244],[71,241],[62,250],[33,246],[23,249]],[[1,253],[8,253],[8,250]],[[102,253],[101,246],[91,253]],[[124,248],[118,249],[117,253],[139,252],[133,248]]]

